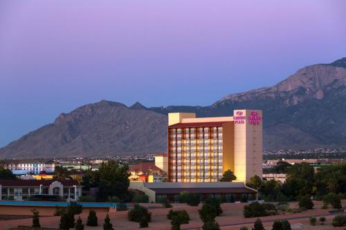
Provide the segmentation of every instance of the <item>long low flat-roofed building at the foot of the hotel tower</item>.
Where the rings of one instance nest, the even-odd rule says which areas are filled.
[[[178,195],[183,192],[198,193],[202,199],[212,196],[224,196],[229,200],[231,196],[239,201],[244,195],[249,200],[257,200],[257,190],[251,189],[244,182],[166,182],[146,183],[142,181],[131,181],[129,189],[143,191],[149,196],[149,202],[156,202],[162,197],[171,202],[178,201]]]

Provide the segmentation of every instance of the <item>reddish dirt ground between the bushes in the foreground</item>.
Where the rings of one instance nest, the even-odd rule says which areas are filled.
[[[343,207],[345,207],[346,200],[343,200]],[[170,209],[164,209],[161,208],[161,204],[143,204],[149,207],[149,211],[152,212],[152,222],[149,223],[148,230],[165,230],[170,229],[170,220],[167,220],[167,213],[170,211]],[[231,203],[225,203],[222,204],[221,207],[224,211],[222,215],[217,217],[217,222],[219,222],[219,225],[222,230],[235,230],[240,229],[242,226],[247,226],[248,229],[251,229],[253,227],[253,222],[257,218],[244,218],[243,216],[243,208],[245,204],[231,204]],[[198,209],[201,208],[201,204],[199,207],[189,207],[186,204],[173,204],[173,209],[185,209],[188,211],[190,215],[190,223],[189,224],[183,224],[181,226],[181,229],[185,230],[192,230],[192,229],[201,229],[202,222],[199,219]],[[296,202],[290,203],[291,207],[297,207],[298,204]],[[321,202],[315,202],[315,206],[313,210],[304,211],[302,213],[284,213],[281,215],[272,215],[272,216],[266,216],[262,217],[261,220],[264,223],[264,227],[271,227],[273,224],[273,221],[275,220],[289,220],[289,222],[292,224],[292,229],[316,229],[316,230],[327,230],[327,229],[334,229],[334,230],[341,230],[345,228],[333,228],[331,226],[331,220],[334,217],[333,215],[329,215],[327,210],[320,209]],[[41,213],[44,214],[44,213]],[[102,223],[104,220],[104,216],[106,215],[106,212],[104,213],[97,213],[98,215],[98,227],[88,227],[84,226],[85,230],[91,230],[91,229],[102,229]],[[327,221],[324,225],[321,225],[319,222],[316,226],[311,226],[309,224],[309,217],[311,215],[315,215],[316,218],[318,218],[320,215],[325,215],[327,218]],[[87,214],[82,213],[80,214],[80,217],[82,218],[83,223],[86,223]],[[139,224],[137,222],[129,222],[127,220],[127,211],[118,211],[118,212],[110,212],[109,217],[111,218],[111,223],[113,224],[114,229],[123,229],[123,230],[131,230],[131,229],[138,229]],[[78,218],[78,215],[75,216],[75,219]],[[17,227],[18,225],[26,225],[30,226],[31,219],[22,219],[22,220],[1,220],[0,221],[0,228],[1,229],[8,229],[10,227]],[[59,227],[60,217],[42,217],[40,218],[40,222],[42,227]],[[270,229],[270,228],[266,228]]]

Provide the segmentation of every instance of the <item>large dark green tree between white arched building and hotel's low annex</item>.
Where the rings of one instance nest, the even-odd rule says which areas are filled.
[[[98,169],[100,183],[98,186],[98,200],[106,201],[109,197],[116,195],[122,200],[129,198],[129,166],[120,165],[114,160],[100,164]]]

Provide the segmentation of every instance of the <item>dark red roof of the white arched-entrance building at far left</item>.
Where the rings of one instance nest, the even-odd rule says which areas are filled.
[[[25,186],[25,187],[39,187],[50,186],[53,182],[58,181],[64,186],[79,185],[77,180],[0,180],[1,186]]]

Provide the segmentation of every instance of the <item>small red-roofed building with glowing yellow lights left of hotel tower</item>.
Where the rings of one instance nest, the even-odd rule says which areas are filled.
[[[154,162],[141,162],[129,167],[130,180],[141,180],[143,182],[163,182],[167,173],[158,168]]]

